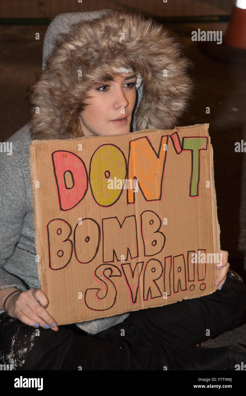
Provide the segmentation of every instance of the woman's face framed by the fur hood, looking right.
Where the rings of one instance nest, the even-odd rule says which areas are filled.
[[[136,101],[136,80],[133,73],[117,74],[114,81],[88,91],[92,98],[86,102],[88,106],[80,117],[85,136],[130,132],[131,114]]]

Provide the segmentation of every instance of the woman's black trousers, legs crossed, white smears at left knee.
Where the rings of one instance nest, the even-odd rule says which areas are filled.
[[[59,326],[57,332],[34,329],[4,312],[0,364],[12,364],[13,370],[187,369],[177,352],[238,326],[245,311],[246,286],[230,270],[221,290],[131,312],[122,323],[96,335],[75,325]]]

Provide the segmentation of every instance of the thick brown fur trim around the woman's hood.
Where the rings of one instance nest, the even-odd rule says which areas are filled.
[[[193,86],[180,48],[162,25],[138,13],[108,10],[76,23],[56,41],[30,90],[32,139],[79,137],[78,117],[88,90],[122,67],[143,80],[131,131],[173,128]]]

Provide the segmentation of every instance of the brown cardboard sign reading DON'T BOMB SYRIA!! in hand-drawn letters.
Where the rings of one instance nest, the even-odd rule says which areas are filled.
[[[34,140],[38,274],[58,325],[216,290],[208,124]]]

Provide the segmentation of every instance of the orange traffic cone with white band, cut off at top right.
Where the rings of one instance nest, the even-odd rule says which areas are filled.
[[[225,44],[246,49],[246,0],[237,0],[224,39]]]

